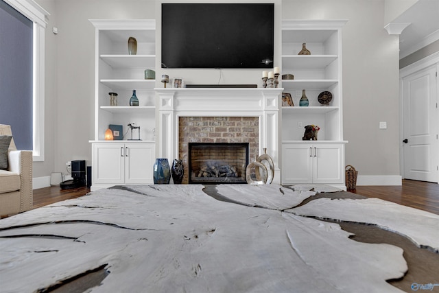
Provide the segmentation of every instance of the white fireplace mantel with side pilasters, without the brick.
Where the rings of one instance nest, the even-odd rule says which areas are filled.
[[[259,154],[272,156],[280,184],[279,98],[283,89],[154,89],[158,95],[158,156],[178,158],[178,117],[259,117]]]

